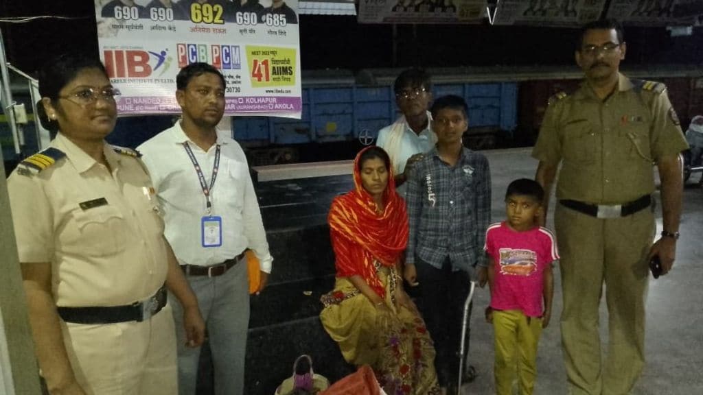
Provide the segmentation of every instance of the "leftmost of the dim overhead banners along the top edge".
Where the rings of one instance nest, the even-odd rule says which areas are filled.
[[[359,0],[359,23],[478,23],[486,0]]]

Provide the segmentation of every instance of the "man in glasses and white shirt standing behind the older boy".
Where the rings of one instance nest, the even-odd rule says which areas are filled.
[[[416,68],[404,70],[396,78],[393,91],[403,115],[378,131],[376,145],[391,158],[396,190],[405,198],[405,181],[413,164],[437,143],[437,136],[430,125],[432,116],[427,111],[432,101],[430,75]]]

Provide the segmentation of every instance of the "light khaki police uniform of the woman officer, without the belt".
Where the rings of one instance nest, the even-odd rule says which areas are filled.
[[[105,144],[110,170],[58,134],[8,179],[22,264],[50,262],[57,306],[122,306],[165,283],[167,245],[137,153]],[[177,393],[169,306],[141,322],[65,323],[70,363],[86,394]]]

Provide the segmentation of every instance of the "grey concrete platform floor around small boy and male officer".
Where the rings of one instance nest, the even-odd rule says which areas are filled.
[[[493,181],[493,219],[503,219],[502,199],[512,179],[533,177],[536,161],[529,158],[529,149],[486,152]],[[693,178],[692,181],[697,181]],[[657,200],[661,201],[657,193]],[[553,200],[552,200],[553,201]],[[553,207],[549,217],[552,218]],[[548,226],[553,228],[551,221]],[[662,230],[661,207],[657,212],[657,233]],[[681,238],[677,244],[676,262],[669,275],[650,278],[647,295],[647,329],[645,352],[647,365],[633,394],[703,394],[703,190],[688,185],[683,195]],[[477,309],[487,306],[489,292],[477,292]],[[538,350],[538,373],[535,394],[566,394],[566,372],[562,361],[559,316],[562,294],[559,271],[555,271],[554,313],[549,327],[543,331]],[[607,347],[607,309],[601,303],[600,322],[602,349]],[[479,314],[472,317],[472,339],[469,351],[472,365],[479,376],[463,388],[463,394],[494,394],[493,332]]]

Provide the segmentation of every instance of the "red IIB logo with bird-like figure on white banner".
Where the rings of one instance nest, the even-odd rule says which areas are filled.
[[[158,70],[161,70],[159,75],[162,75],[169,69],[172,60],[172,57],[168,56],[168,50],[106,50],[103,51],[103,57],[110,78],[146,78]]]

